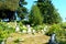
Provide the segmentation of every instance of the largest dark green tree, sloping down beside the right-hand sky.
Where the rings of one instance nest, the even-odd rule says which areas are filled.
[[[42,15],[44,16],[44,23],[52,24],[62,21],[62,18],[53,6],[52,0],[37,0],[36,6],[38,7]]]

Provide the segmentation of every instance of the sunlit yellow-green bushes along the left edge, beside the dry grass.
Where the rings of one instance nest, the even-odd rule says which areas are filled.
[[[14,28],[9,28],[7,22],[0,22],[0,42],[3,41],[3,38],[7,38],[13,32]]]

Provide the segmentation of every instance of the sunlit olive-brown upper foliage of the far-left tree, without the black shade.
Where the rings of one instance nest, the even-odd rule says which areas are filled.
[[[15,11],[19,7],[20,0],[0,0],[0,10]]]

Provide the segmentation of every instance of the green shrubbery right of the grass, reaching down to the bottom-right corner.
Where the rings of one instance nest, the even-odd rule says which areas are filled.
[[[53,33],[56,34],[56,41],[59,44],[66,44],[66,31],[61,26],[61,24],[51,25],[46,34],[52,35]]]

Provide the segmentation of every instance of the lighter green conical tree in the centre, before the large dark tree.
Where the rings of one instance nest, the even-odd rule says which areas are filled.
[[[43,16],[37,6],[33,6],[30,13],[30,23],[37,25],[43,23]]]

